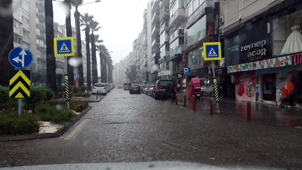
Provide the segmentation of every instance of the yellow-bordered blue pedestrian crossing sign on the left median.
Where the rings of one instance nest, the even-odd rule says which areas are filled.
[[[68,57],[75,55],[73,37],[53,38],[55,57]]]

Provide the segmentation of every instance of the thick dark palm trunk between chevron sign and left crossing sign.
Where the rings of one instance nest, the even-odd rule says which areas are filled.
[[[58,96],[58,89],[56,85],[56,59],[53,54],[53,1],[45,0],[45,35],[46,35],[46,83],[49,84],[50,89],[53,90],[55,96]]]

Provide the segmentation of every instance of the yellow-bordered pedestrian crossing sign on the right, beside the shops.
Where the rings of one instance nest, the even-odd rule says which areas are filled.
[[[220,42],[204,43],[204,60],[221,60]]]

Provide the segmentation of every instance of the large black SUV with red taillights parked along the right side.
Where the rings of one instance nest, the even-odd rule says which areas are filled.
[[[171,94],[176,94],[176,86],[173,80],[157,80],[154,84],[153,93],[155,100],[158,100],[160,96],[170,97]]]

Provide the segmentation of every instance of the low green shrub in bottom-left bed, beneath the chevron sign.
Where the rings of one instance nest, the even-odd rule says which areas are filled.
[[[29,113],[18,116],[18,113],[5,110],[0,114],[0,135],[35,133],[39,128],[38,118]]]

